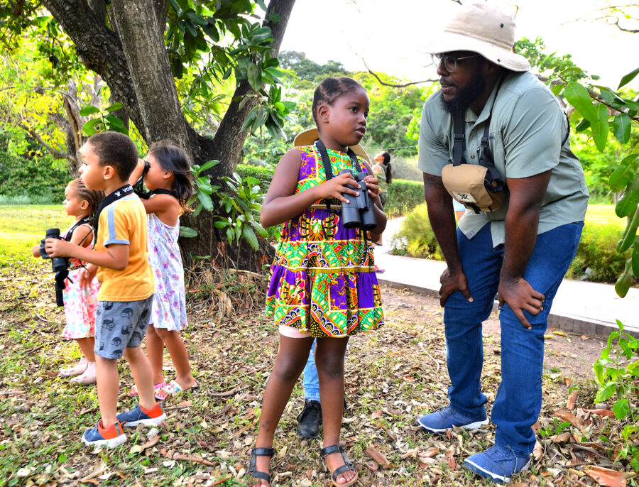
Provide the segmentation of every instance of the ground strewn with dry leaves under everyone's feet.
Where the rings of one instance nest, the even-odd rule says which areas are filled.
[[[273,324],[260,310],[234,305],[235,314],[217,319],[224,313],[210,303],[191,303],[184,338],[200,389],[165,401],[168,419],[159,429],[138,427],[122,447],[91,449],[80,435],[97,420],[97,393],[94,386],[74,387],[58,377],[59,368],[79,359],[79,352],[60,339],[64,315],[53,305],[46,270],[34,264],[0,272],[0,486],[245,485],[261,397],[277,352]],[[224,295],[223,307],[229,308],[229,299]],[[342,440],[359,470],[359,485],[490,485],[461,464],[491,446],[492,425],[449,434],[425,434],[415,426],[416,417],[447,404],[437,300],[388,286],[383,300],[386,327],[351,339],[346,359]],[[484,345],[482,383],[490,406],[500,378],[494,314],[484,327]],[[513,485],[637,485],[626,461],[614,461],[624,446],[623,424],[611,417],[608,405],[593,404],[591,364],[602,346],[594,337],[548,331],[536,457]],[[125,395],[132,381],[124,361],[120,373],[124,410],[135,405]],[[173,373],[168,366],[165,377]],[[330,484],[319,459],[320,441],[295,436],[302,403],[300,381],[275,437],[273,485]],[[593,409],[599,411],[587,411]]]

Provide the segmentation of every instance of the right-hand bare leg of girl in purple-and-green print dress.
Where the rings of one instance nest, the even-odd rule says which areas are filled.
[[[344,412],[344,354],[346,354],[346,338],[320,338],[315,347],[315,364],[320,376],[320,403],[324,418],[324,448],[339,444],[339,433],[342,430],[342,413]],[[326,456],[330,471],[344,465],[341,453]],[[346,483],[356,476],[349,470],[337,476],[337,483]]]

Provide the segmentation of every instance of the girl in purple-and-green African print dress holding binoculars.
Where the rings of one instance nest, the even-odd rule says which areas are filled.
[[[295,381],[306,365],[313,339],[320,378],[324,448],[320,456],[336,486],[350,486],[356,471],[339,447],[344,406],[344,352],[349,337],[383,324],[379,285],[368,232],[345,228],[342,203],[368,191],[374,202],[377,238],[386,226],[377,180],[351,147],[366,133],[368,94],[355,80],[329,77],[315,89],[312,114],[319,139],[288,151],[278,163],[261,212],[263,226],[284,223],[266,313],[279,325],[280,343],[268,378],[249,476],[254,487],[271,482],[273,437]],[[322,157],[324,155],[324,157]],[[327,177],[326,168],[334,177]],[[369,175],[360,186],[351,174]],[[356,189],[351,189],[356,188]]]

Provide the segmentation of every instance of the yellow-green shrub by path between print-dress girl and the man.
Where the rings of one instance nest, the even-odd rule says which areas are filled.
[[[391,246],[395,255],[444,260],[442,250],[428,221],[426,203],[419,204],[406,215],[399,231],[393,236]]]

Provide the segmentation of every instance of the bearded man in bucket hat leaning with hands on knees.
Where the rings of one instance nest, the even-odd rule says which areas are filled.
[[[566,116],[528,72],[528,61],[513,53],[514,39],[513,19],[493,6],[457,11],[425,48],[441,89],[424,105],[419,140],[430,223],[447,262],[439,295],[452,385],[449,405],[418,422],[429,432],[488,424],[481,323],[497,295],[495,444],[464,461],[496,483],[508,483],[530,463],[547,316],[577,251],[588,202]],[[474,189],[469,170],[481,173]],[[474,210],[457,231],[452,195]]]

